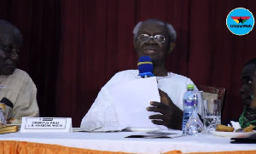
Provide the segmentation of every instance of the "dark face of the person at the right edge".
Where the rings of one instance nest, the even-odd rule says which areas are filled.
[[[250,64],[244,66],[241,71],[241,83],[240,88],[241,101],[245,106],[249,106],[252,101],[253,95],[253,82],[256,82],[255,77],[255,65]]]

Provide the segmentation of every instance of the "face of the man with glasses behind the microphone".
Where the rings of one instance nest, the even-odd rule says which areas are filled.
[[[165,61],[169,49],[169,38],[164,23],[152,20],[145,21],[143,22],[142,26],[140,26],[140,29],[138,31],[138,36],[140,36],[141,34],[148,34],[148,36],[151,38],[146,43],[140,42],[138,38],[135,39],[134,48],[137,51],[138,57],[148,55],[153,62]],[[165,42],[155,43],[154,39],[152,38],[155,35],[164,36]]]

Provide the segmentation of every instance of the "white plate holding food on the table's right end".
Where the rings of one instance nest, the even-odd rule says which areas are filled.
[[[244,138],[249,136],[250,134],[256,134],[256,131],[253,132],[218,132],[218,131],[211,131],[212,134],[222,137],[230,137],[230,138]]]

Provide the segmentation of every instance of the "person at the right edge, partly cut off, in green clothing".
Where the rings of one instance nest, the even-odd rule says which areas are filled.
[[[256,127],[256,59],[249,60],[241,71],[241,101],[244,110],[239,118],[241,128]]]

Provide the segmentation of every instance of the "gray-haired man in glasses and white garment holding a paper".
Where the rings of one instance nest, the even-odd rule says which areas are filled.
[[[183,94],[187,84],[193,84],[188,77],[166,71],[166,57],[175,47],[176,31],[172,25],[149,19],[139,22],[133,31],[133,45],[137,56],[148,55],[153,63],[153,74],[158,80],[160,102],[151,101],[147,111],[156,114],[148,117],[152,123],[166,128],[181,129],[183,121]],[[104,85],[90,110],[81,122],[81,128],[118,126],[118,115],[110,96],[110,86],[141,78],[138,70],[119,71]],[[195,88],[197,89],[197,88]],[[200,107],[198,107],[200,108]],[[131,109],[132,110],[132,109]]]

